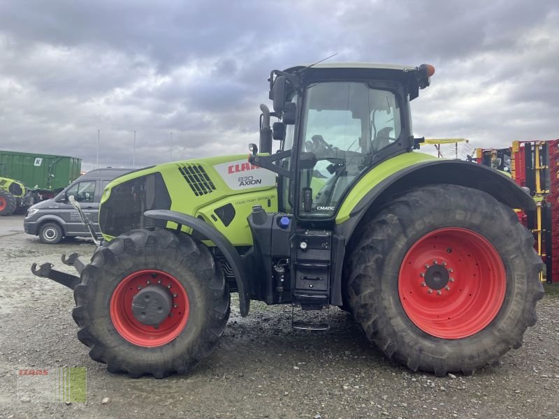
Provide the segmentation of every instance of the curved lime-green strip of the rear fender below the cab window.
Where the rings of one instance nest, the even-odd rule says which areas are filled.
[[[347,194],[340,210],[337,212],[336,223],[340,224],[347,221],[349,219],[349,214],[351,214],[351,211],[358,202],[363,199],[368,191],[377,186],[377,184],[386,179],[386,177],[393,175],[399,170],[413,166],[414,164],[436,159],[437,157],[431,156],[430,154],[411,152],[399,154],[373,167],[365,176],[359,179],[357,184],[355,184]]]

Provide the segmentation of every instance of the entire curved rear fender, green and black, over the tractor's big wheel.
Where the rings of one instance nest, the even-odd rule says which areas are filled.
[[[415,153],[412,153],[415,154]],[[420,154],[420,153],[417,153]],[[423,156],[426,156],[423,154]],[[361,179],[350,191],[336,218],[336,230],[346,242],[358,222],[373,205],[379,207],[392,196],[428,184],[455,184],[489,193],[493,198],[511,208],[535,210],[534,199],[521,189],[509,176],[498,170],[477,163],[461,160],[406,159],[400,170],[384,177],[371,177],[375,168]],[[416,160],[414,162],[414,160]],[[382,166],[382,165],[379,165]],[[377,166],[377,167],[379,167]],[[374,179],[374,183],[371,180]],[[365,183],[362,183],[365,182]],[[367,182],[370,186],[368,186]],[[373,183],[373,184],[372,184]],[[344,212],[342,213],[342,210]]]

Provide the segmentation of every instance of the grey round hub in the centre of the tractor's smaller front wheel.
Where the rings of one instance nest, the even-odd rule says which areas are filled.
[[[171,308],[173,295],[161,285],[150,285],[140,290],[132,300],[132,314],[137,321],[144,325],[159,327]]]

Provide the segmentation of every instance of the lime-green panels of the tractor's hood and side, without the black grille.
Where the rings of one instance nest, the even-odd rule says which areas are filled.
[[[196,196],[179,170],[191,165],[205,170],[215,186],[215,190]],[[261,205],[266,212],[277,212],[275,174],[263,168],[250,166],[247,163],[247,154],[175,161],[129,173],[118,177],[106,186],[101,198],[101,206],[108,200],[110,191],[115,186],[153,172],[161,173],[164,179],[171,200],[171,211],[196,217],[201,216],[206,223],[225,235],[233,246],[252,245],[252,234],[249,230],[247,216],[252,211],[253,205]],[[266,178],[267,182],[263,182],[263,186],[256,184],[254,187],[243,186],[244,189],[237,189],[239,179],[251,176]],[[225,226],[215,210],[227,204],[233,205],[235,217],[228,226]],[[167,227],[176,228],[177,225],[169,222]],[[183,228],[183,230],[187,233],[190,232],[189,228]],[[112,239],[109,235],[103,234],[103,236],[106,240]]]

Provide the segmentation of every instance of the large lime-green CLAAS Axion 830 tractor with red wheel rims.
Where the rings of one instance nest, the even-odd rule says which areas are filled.
[[[191,372],[222,336],[230,293],[242,316],[251,300],[293,304],[300,330],[325,330],[319,311],[342,307],[412,371],[494,364],[521,346],[543,295],[534,239],[512,210],[535,203],[497,170],[414,151],[409,102],[433,73],[272,71],[273,111],[261,105],[248,159],[118,177],[90,263],[62,257],[80,276],[32,270],[73,289],[89,355],[132,377]]]

